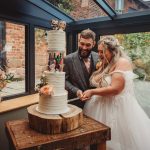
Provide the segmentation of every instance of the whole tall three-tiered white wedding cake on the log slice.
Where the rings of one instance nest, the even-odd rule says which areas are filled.
[[[60,68],[57,69],[60,61],[56,66],[57,59],[62,59],[66,50],[66,35],[62,29],[56,29],[57,26],[55,26],[55,30],[51,30],[47,34],[48,53],[54,55],[55,68],[50,68],[50,70],[44,72],[47,84],[52,87],[52,91],[51,94],[39,94],[39,104],[36,108],[38,112],[44,114],[62,114],[69,111],[67,105],[68,93],[65,90],[65,72],[62,72]]]

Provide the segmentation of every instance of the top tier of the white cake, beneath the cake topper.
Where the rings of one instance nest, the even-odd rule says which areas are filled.
[[[48,52],[65,51],[66,35],[62,30],[51,30],[48,32]]]

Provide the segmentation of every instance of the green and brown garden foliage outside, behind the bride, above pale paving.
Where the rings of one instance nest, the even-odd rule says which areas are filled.
[[[150,81],[150,32],[116,36],[132,59],[139,79]]]

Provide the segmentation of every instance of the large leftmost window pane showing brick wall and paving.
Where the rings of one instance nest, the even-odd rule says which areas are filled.
[[[25,92],[24,25],[0,21],[0,67],[2,96]]]

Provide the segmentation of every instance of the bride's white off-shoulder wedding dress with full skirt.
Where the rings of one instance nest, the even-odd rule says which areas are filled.
[[[132,71],[115,72],[124,76],[123,91],[116,96],[92,96],[84,106],[84,114],[111,128],[107,150],[150,150],[150,119],[135,98],[135,74]],[[105,80],[110,84],[111,75]]]

